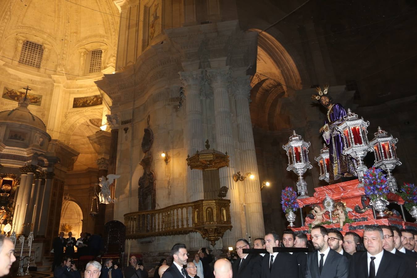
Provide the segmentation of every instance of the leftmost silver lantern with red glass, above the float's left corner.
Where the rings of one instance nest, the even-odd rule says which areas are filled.
[[[305,142],[300,135],[293,131],[292,136],[289,138],[288,143],[283,145],[282,148],[286,150],[288,156],[288,171],[293,171],[298,175],[297,190],[299,193],[298,198],[307,198],[307,183],[303,178],[307,169],[311,169],[308,153],[310,142]]]

